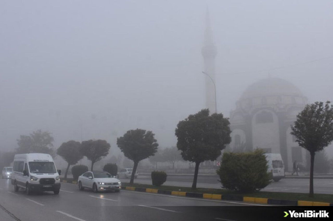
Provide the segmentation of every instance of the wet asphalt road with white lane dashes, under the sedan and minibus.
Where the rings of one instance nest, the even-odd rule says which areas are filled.
[[[6,215],[4,212],[6,210],[12,215],[9,220],[216,221],[216,218],[219,218],[220,220],[229,219],[241,221],[248,219],[244,219],[242,217],[243,214],[238,213],[237,210],[233,211],[232,208],[236,208],[235,206],[248,205],[258,204],[207,200],[126,190],[121,190],[119,193],[94,193],[91,190],[80,191],[77,185],[66,183],[61,184],[59,195],[54,195],[53,192],[26,195],[24,189],[20,189],[19,192],[14,192],[10,180],[0,180],[0,217],[6,216],[8,218],[8,214]]]

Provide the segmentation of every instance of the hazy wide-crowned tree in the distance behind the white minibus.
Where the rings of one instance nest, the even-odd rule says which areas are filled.
[[[46,153],[55,157],[53,141],[54,138],[48,131],[37,130],[29,136],[21,135],[20,139],[17,139],[19,147],[16,149],[16,153]]]

